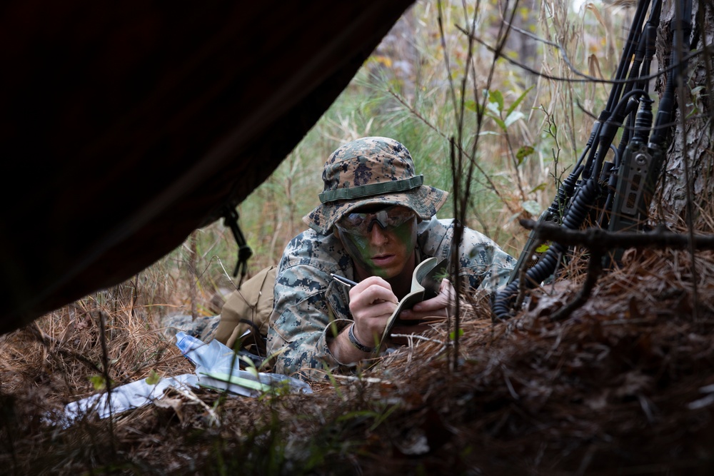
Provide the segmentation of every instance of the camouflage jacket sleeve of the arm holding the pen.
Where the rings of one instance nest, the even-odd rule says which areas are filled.
[[[268,328],[268,355],[280,353],[274,371],[324,375],[338,368],[328,339],[351,323],[346,286],[331,273],[353,279],[352,260],[333,235],[308,230],[293,238],[281,258]]]

